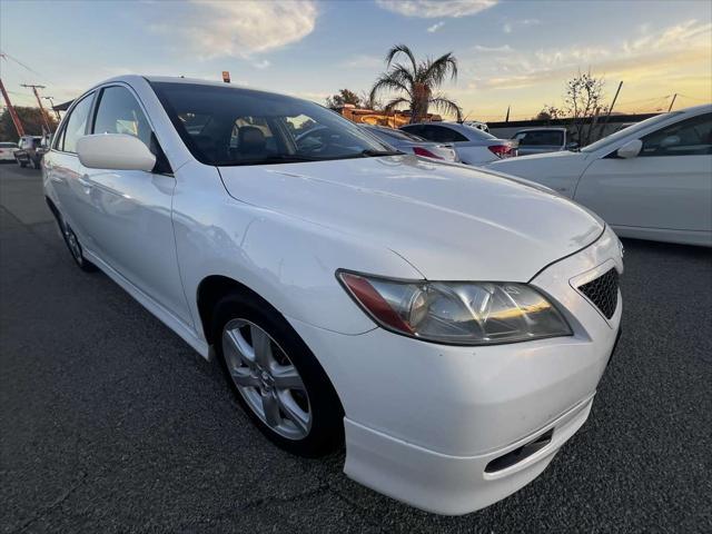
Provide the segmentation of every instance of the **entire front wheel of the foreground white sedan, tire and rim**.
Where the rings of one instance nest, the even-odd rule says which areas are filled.
[[[250,343],[260,345],[256,335],[259,330],[263,333],[259,336],[267,336],[261,339],[270,347],[273,363],[264,365],[265,358],[257,356],[249,366],[239,349],[236,352],[239,345],[234,339],[246,342],[248,347]],[[324,456],[343,447],[344,411],[338,395],[314,354],[277,310],[258,297],[228,295],[216,306],[212,335],[216,353],[238,403],[268,439],[306,457]],[[280,388],[286,377],[290,379],[289,387]],[[295,388],[293,382],[297,384]],[[270,396],[274,399],[266,404],[265,399]]]

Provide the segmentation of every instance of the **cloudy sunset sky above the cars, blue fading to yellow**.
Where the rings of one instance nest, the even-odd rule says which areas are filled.
[[[37,16],[42,13],[43,16]],[[28,23],[31,17],[31,23]],[[56,102],[122,73],[186,76],[308,98],[370,89],[384,57],[453,52],[443,91],[468,119],[535,116],[561,106],[566,79],[589,69],[616,110],[712,101],[712,2],[692,1],[46,1],[0,0],[0,76]],[[18,61],[21,65],[18,63]]]

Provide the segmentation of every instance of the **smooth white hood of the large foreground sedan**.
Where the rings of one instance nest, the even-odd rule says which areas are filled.
[[[603,231],[553,191],[412,156],[219,172],[234,198],[382,245],[428,279],[527,281]]]

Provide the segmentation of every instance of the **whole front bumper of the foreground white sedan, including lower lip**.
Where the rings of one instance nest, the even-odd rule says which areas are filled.
[[[380,328],[348,336],[290,319],[344,405],[345,473],[441,514],[482,508],[535,478],[585,422],[614,348],[620,295],[606,319],[576,289],[611,267],[623,269],[617,238],[606,231],[530,280],[558,303],[574,332],[567,337],[444,346]],[[523,449],[531,454],[487,469],[532,442]]]

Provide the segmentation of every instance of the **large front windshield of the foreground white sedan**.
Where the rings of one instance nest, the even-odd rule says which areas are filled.
[[[392,156],[376,137],[317,103],[235,87],[151,82],[195,158],[265,165]]]

